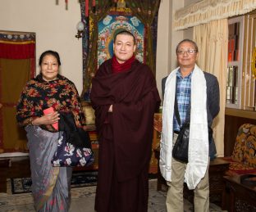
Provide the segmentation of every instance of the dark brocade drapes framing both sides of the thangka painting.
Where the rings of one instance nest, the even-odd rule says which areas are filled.
[[[145,25],[147,38],[146,43],[146,64],[152,69],[155,75],[155,52],[156,52],[156,23],[160,0],[126,0],[126,7],[129,7],[133,16],[137,16]],[[83,92],[81,98],[89,101],[91,80],[97,70],[98,52],[98,21],[107,15],[107,12],[117,6],[117,0],[83,0],[80,1],[81,16],[85,23],[83,37]],[[86,16],[89,13],[89,18]],[[91,27],[92,26],[92,27]],[[92,29],[89,32],[89,28]]]

